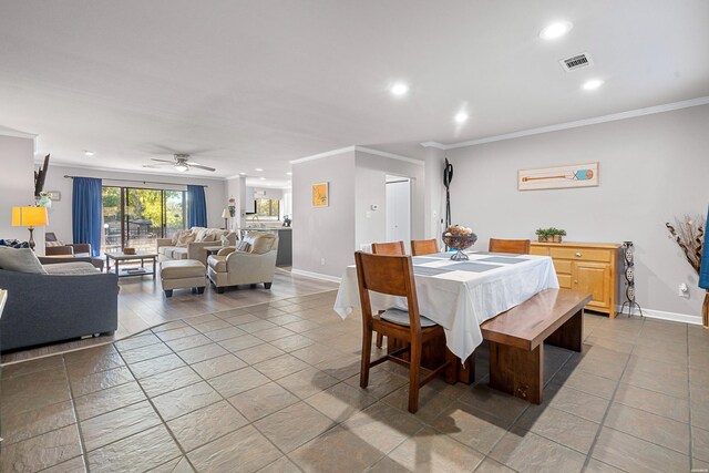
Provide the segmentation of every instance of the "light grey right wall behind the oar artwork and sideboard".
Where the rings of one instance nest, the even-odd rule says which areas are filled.
[[[640,306],[698,317],[703,291],[665,223],[707,213],[708,131],[703,105],[449,151],[453,222],[472,226],[477,249],[548,226],[569,241],[633,240]],[[598,187],[517,191],[517,169],[585,162],[600,163]]]

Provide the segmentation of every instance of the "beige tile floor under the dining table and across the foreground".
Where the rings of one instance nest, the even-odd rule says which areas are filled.
[[[2,472],[551,471],[709,467],[709,331],[585,317],[583,353],[546,348],[545,402],[405,371],[359,388],[360,319],[335,292],[158,326],[3,367]],[[697,470],[697,471],[699,471]],[[706,471],[706,470],[705,470]]]

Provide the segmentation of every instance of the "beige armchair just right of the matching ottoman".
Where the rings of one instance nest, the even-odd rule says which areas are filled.
[[[246,244],[248,247],[246,247]],[[257,285],[270,289],[278,256],[278,235],[267,232],[246,234],[239,243],[246,249],[223,248],[207,259],[207,276],[217,292],[227,286]]]

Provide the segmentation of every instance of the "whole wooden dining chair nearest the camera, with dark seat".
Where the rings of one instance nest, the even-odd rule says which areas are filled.
[[[359,374],[359,385],[369,384],[369,370],[384,361],[393,361],[409,368],[409,412],[419,410],[419,389],[431,381],[443,370],[455,369],[455,358],[445,350],[445,361],[442,364],[425,369],[421,367],[421,353],[427,343],[445,343],[443,327],[419,313],[417,286],[413,280],[413,265],[411,256],[383,256],[357,251],[357,280],[359,297],[362,305],[362,367]],[[409,310],[388,309],[372,315],[369,291],[401,296],[407,298]],[[374,361],[372,354],[372,332],[386,335],[397,339],[403,348],[391,351]],[[444,345],[443,345],[444,346]],[[408,360],[400,358],[408,353]],[[425,373],[424,373],[425,371]],[[450,374],[446,373],[446,374]]]

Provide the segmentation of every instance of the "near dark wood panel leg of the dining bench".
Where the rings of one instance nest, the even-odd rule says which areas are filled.
[[[544,387],[544,343],[527,351],[491,341],[490,387],[541,404]]]

